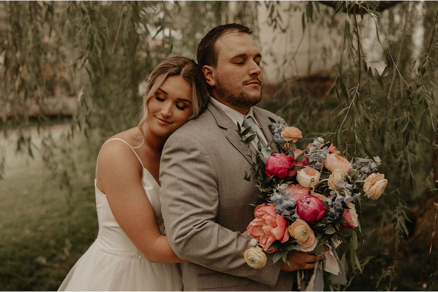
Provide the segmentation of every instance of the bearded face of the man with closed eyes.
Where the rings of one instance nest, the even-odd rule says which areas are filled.
[[[218,62],[211,67],[212,95],[246,114],[261,99],[263,72],[256,42],[246,33],[230,32],[218,38],[215,50]]]

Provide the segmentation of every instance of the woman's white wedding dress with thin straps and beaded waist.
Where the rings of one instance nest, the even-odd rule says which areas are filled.
[[[112,140],[128,145],[118,138],[107,142]],[[143,166],[135,150],[132,151]],[[165,234],[160,186],[144,166],[142,183],[160,231]],[[107,197],[97,188],[96,180],[94,190],[99,233],[87,252],[74,264],[58,291],[182,291],[178,264],[148,262],[114,219]]]

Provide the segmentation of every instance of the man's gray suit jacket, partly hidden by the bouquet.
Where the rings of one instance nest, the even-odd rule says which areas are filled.
[[[267,110],[253,108],[268,141]],[[249,239],[241,235],[254,219],[260,194],[243,179],[251,164],[237,126],[218,107],[207,105],[197,119],[175,131],[164,145],[160,200],[166,235],[182,264],[185,291],[292,290],[291,273],[280,272],[272,255],[262,269],[243,259]]]

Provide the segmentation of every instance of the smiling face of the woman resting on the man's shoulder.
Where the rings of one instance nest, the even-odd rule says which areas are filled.
[[[192,87],[181,76],[170,76],[147,102],[147,125],[168,137],[192,115]]]

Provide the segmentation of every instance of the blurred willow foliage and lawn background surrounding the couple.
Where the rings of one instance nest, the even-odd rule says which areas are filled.
[[[437,17],[437,1],[1,1],[0,290],[57,289],[97,234],[101,144],[136,125],[160,60],[194,58],[227,22],[254,30],[260,106],[302,130],[298,146],[382,159],[360,265],[341,247],[348,285],[326,288],[438,290]]]

